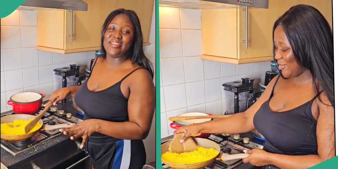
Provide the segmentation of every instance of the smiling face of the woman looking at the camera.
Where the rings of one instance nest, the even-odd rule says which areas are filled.
[[[125,56],[134,37],[131,20],[124,14],[116,15],[104,32],[103,46],[107,57]]]

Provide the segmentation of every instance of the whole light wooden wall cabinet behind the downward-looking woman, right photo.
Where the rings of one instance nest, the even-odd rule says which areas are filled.
[[[202,59],[245,64],[272,61],[273,23],[291,6],[309,4],[316,7],[332,25],[330,0],[269,0],[269,8],[248,7],[248,48],[245,49],[245,10],[201,9]],[[236,8],[237,7],[237,8]]]

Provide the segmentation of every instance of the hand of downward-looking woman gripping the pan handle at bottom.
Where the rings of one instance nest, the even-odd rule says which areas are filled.
[[[269,165],[269,154],[268,152],[261,149],[252,149],[247,152],[250,154],[247,158],[243,159],[244,163],[250,163],[255,166]]]

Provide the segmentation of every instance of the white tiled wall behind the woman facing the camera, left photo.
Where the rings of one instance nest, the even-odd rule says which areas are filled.
[[[151,31],[151,45],[145,46],[144,51],[154,64],[154,28]],[[36,45],[37,11],[15,10],[1,18],[1,112],[12,109],[6,101],[16,93],[40,92],[48,99],[62,86],[62,77],[55,75],[53,69],[78,64],[80,71],[85,72],[95,58],[95,51],[60,54],[36,50]]]

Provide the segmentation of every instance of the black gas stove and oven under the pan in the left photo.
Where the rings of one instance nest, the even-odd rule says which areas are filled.
[[[12,115],[14,112],[8,111],[2,113],[1,118]],[[66,115],[59,115],[57,112],[48,110],[42,117],[43,124],[56,125],[56,124],[69,124],[80,123],[81,119],[72,116],[66,118]],[[30,155],[31,152],[49,144],[48,141],[52,139],[57,140],[57,137],[62,135],[58,130],[39,131],[33,137],[22,141],[6,141],[1,139],[1,148],[9,152],[13,156]],[[61,136],[60,136],[61,137]],[[87,152],[80,149],[81,140],[71,141],[67,144],[60,145],[58,148],[47,150],[47,154],[39,157],[36,160],[28,162],[18,169],[51,169],[51,168],[83,168],[90,169],[90,159]],[[62,155],[60,155],[62,154]],[[2,154],[3,155],[3,154]],[[4,161],[2,161],[5,164]]]

